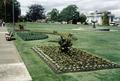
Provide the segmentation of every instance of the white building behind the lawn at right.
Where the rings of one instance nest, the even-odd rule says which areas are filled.
[[[108,14],[109,14],[109,23],[111,23],[113,22],[114,15],[111,14],[111,12],[108,12]],[[96,21],[98,25],[102,25],[103,12],[95,11],[87,14],[86,16],[87,16],[87,22],[89,24],[92,24],[92,21]]]

